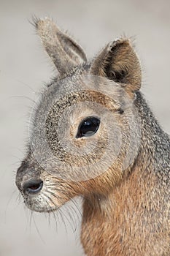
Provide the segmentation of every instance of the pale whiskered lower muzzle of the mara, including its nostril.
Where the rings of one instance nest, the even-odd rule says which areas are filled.
[[[31,211],[40,213],[57,211],[70,200],[70,187],[68,185],[64,189],[64,184],[61,181],[46,174],[18,180],[18,189],[23,196],[25,205]]]

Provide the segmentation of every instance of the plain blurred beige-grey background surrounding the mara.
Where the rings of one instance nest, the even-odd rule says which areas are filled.
[[[53,75],[28,23],[31,15],[53,17],[88,57],[123,33],[135,36],[144,72],[142,91],[170,133],[170,1],[0,0],[0,256],[83,255],[77,210],[64,207],[66,225],[59,215],[49,224],[47,215],[31,215],[18,201],[15,171],[24,156],[31,99]]]

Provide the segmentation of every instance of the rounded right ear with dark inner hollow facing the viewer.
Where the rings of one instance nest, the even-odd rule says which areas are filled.
[[[130,94],[141,87],[141,67],[129,39],[109,43],[93,60],[90,73],[122,83]]]

